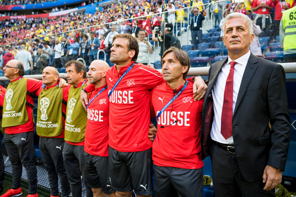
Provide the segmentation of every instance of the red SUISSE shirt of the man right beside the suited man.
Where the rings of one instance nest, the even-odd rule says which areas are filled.
[[[200,150],[203,100],[194,102],[192,85],[193,83],[189,82],[157,120],[157,134],[152,148],[155,165],[185,169],[198,169],[203,166]],[[182,87],[183,85],[174,93],[163,83],[152,90],[151,105],[154,117]],[[175,120],[178,122],[172,124]]]

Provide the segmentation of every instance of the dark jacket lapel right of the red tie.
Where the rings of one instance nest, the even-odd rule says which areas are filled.
[[[237,95],[237,102],[235,104],[233,115],[235,114],[239,106],[239,103],[242,101],[242,97],[244,96],[244,93],[246,92],[247,87],[249,86],[250,81],[258,67],[258,64],[256,64],[257,62],[258,62],[257,57],[251,53],[246,69],[244,70],[244,74],[242,76],[242,82],[239,87],[239,93]]]

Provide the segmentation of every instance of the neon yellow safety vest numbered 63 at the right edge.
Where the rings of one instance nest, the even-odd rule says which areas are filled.
[[[283,12],[284,50],[296,49],[296,6]]]

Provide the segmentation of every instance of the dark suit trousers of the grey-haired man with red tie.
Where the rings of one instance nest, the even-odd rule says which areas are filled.
[[[236,154],[219,149],[217,145],[209,147],[212,160],[212,175],[215,197],[263,197],[275,196],[275,189],[264,191],[261,180],[248,182],[239,170]],[[263,175],[263,172],[262,172]]]

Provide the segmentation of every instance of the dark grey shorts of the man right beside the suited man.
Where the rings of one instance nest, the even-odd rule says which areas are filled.
[[[155,197],[202,197],[203,172],[199,169],[183,169],[154,165]]]

